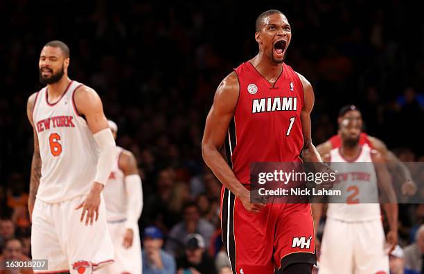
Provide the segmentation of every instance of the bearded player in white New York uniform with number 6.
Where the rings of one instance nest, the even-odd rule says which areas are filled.
[[[68,46],[48,42],[39,56],[46,86],[28,99],[31,246],[48,273],[91,273],[114,259],[101,192],[116,146],[96,91],[70,80],[68,67]]]

